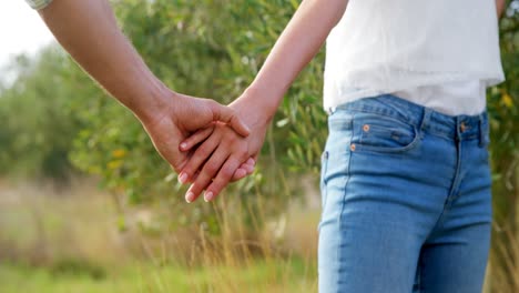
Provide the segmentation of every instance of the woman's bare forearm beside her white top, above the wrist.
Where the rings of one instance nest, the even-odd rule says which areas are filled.
[[[255,105],[261,104],[269,118],[274,115],[294,79],[319,51],[330,30],[343,17],[346,6],[347,0],[302,2],[247,89],[254,92],[251,97],[257,97]]]

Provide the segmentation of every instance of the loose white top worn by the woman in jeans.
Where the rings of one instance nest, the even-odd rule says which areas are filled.
[[[349,0],[327,40],[324,107],[383,93],[448,114],[505,77],[495,0]]]

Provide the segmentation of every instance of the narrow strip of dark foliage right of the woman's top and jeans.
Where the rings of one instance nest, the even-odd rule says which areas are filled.
[[[519,1],[508,1],[500,21],[501,57],[507,81],[489,90],[491,161],[493,171],[491,292],[519,290]]]

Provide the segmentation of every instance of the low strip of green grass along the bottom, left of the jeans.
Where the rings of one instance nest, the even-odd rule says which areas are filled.
[[[0,265],[0,292],[316,292],[313,267],[314,263],[298,259],[199,269],[140,263],[110,267],[103,276],[95,277],[88,272],[59,273],[3,264]]]

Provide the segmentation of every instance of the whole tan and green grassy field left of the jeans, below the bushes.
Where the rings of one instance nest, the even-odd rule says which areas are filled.
[[[317,232],[309,228],[318,209],[267,224],[281,238],[258,231],[260,250],[245,255],[233,252],[236,235],[210,247],[185,232],[142,235],[138,228],[153,210],[123,211],[121,231],[115,210],[94,181],[59,192],[0,184],[0,293],[317,292]]]

